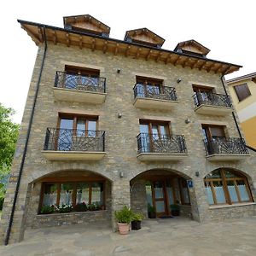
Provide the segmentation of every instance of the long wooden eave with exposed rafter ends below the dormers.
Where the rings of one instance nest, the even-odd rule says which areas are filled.
[[[77,46],[80,49],[87,48],[101,50],[103,53],[113,53],[114,55],[125,55],[133,58],[144,59],[146,61],[164,62],[175,66],[190,67],[205,70],[207,73],[233,73],[241,66],[224,61],[215,61],[201,56],[177,53],[167,49],[157,49],[143,44],[130,43],[114,38],[104,38],[86,32],[75,32],[55,26],[34,23],[26,20],[18,20],[21,27],[26,30],[35,44],[47,42],[53,44],[65,44],[67,47]],[[213,65],[214,64],[214,65]]]

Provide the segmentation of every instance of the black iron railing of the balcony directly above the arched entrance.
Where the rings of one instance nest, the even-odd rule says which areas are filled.
[[[183,135],[161,135],[140,133],[137,136],[137,152],[141,153],[179,153],[186,154],[187,147]]]

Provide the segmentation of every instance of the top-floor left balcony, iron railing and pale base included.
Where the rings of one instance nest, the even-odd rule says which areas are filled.
[[[54,96],[57,101],[102,104],[106,99],[106,79],[56,72]]]

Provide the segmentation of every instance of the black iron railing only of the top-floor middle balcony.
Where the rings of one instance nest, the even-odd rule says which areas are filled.
[[[152,98],[166,101],[177,101],[176,90],[173,87],[135,84],[134,97]]]

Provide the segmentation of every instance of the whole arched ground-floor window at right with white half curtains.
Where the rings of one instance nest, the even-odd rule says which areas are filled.
[[[218,169],[204,179],[209,205],[253,201],[247,177],[239,172]]]

